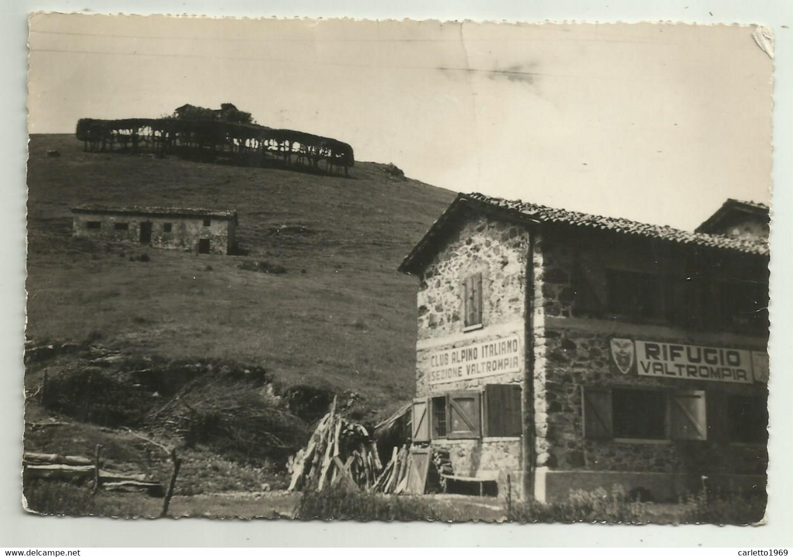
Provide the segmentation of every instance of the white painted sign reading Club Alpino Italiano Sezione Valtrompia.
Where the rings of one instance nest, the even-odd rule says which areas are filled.
[[[431,385],[519,372],[523,353],[518,335],[477,342],[430,354],[427,380]]]

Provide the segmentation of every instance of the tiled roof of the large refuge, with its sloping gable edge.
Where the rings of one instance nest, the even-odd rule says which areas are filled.
[[[430,230],[427,231],[427,234],[413,248],[411,253],[404,258],[399,268],[400,271],[408,273],[417,266],[421,254],[428,249],[432,249],[431,245],[435,243],[435,238],[439,235],[441,229],[445,227],[446,222],[458,212],[458,208],[461,205],[504,211],[505,214],[511,213],[513,216],[519,216],[535,223],[562,223],[574,227],[658,238],[670,242],[733,250],[745,254],[768,255],[768,242],[762,238],[730,238],[723,235],[689,232],[668,226],[658,226],[657,224],[638,223],[634,220],[588,215],[587,213],[568,211],[567,209],[555,209],[521,200],[505,200],[500,197],[486,196],[482,193],[460,193],[450,207],[446,209],[446,212],[430,227]]]

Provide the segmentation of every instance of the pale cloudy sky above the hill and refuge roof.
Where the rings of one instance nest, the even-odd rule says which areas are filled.
[[[737,25],[38,14],[29,132],[232,102],[409,177],[692,230],[768,203],[772,59]]]

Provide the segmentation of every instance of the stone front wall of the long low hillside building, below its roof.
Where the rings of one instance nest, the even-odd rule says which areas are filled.
[[[101,228],[88,228],[86,224],[89,222],[99,222]],[[74,235],[109,242],[140,243],[140,225],[146,222],[151,223],[153,247],[197,251],[198,240],[208,238],[209,252],[223,255],[228,254],[233,246],[234,221],[219,218],[212,218],[209,226],[205,227],[202,217],[75,213]],[[127,230],[116,230],[116,223],[126,223]],[[170,232],[164,231],[165,223],[170,223]]]

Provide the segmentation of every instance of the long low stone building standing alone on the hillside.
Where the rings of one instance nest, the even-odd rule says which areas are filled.
[[[111,242],[229,254],[235,246],[236,211],[175,207],[79,205],[71,209],[74,235]]]

